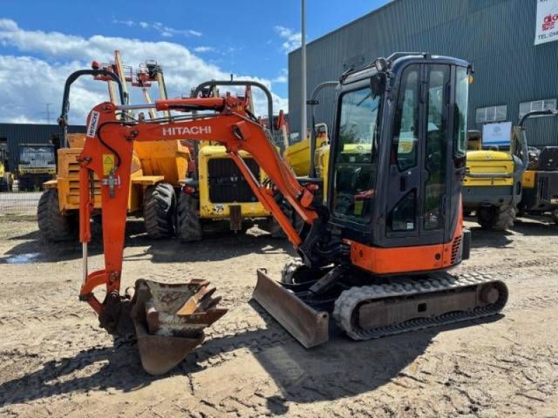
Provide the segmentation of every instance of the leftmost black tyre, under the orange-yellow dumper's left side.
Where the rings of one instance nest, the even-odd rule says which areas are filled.
[[[57,189],[46,189],[40,195],[37,221],[43,238],[51,242],[73,241],[80,231],[76,213],[60,212]]]

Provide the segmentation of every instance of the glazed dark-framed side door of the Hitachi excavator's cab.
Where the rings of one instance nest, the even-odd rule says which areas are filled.
[[[382,247],[444,242],[450,103],[450,65],[412,64],[403,70],[387,150]]]

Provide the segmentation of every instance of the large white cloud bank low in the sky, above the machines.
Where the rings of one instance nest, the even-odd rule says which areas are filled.
[[[44,123],[45,103],[54,103],[58,116],[66,77],[71,72],[89,68],[91,61],[112,61],[114,49],[123,54],[126,65],[137,68],[140,63],[156,59],[163,65],[169,97],[189,94],[193,86],[210,79],[230,79],[230,73],[199,58],[183,45],[173,42],[145,42],[137,39],[107,36],[68,35],[60,32],[26,31],[13,20],[0,20],[0,45],[18,51],[0,54],[0,118],[3,122]],[[15,77],[14,69],[17,69]],[[271,88],[269,79],[234,75],[234,79],[251,79]],[[225,88],[222,88],[224,93]],[[263,94],[255,91],[257,114],[266,113]],[[153,98],[157,97],[154,87]],[[132,88],[132,101],[143,102],[139,88]],[[107,100],[107,86],[89,77],[80,78],[72,86],[70,123],[84,124],[91,108]],[[287,110],[287,100],[273,94],[273,108]]]

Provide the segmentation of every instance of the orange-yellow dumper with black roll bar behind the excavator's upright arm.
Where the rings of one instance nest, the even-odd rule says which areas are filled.
[[[119,86],[123,102],[122,84],[114,72],[107,70],[80,70],[68,78],[64,90],[62,114],[59,123],[66,127],[68,99],[71,84],[81,75],[106,75]],[[125,116],[123,116],[125,117]],[[63,146],[58,150],[56,180],[43,184],[45,191],[38,204],[38,226],[43,237],[49,241],[75,240],[77,215],[80,207],[79,171],[77,158],[82,152],[86,134],[64,133]],[[114,156],[107,155],[106,167],[114,167]],[[134,144],[132,180],[128,197],[130,215],[143,216],[145,229],[151,238],[174,235],[176,223],[176,194],[179,183],[186,176],[190,152],[180,141],[136,142]],[[96,209],[100,209],[100,185],[95,182]]]

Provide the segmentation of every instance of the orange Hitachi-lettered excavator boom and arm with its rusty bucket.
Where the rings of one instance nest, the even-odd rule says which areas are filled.
[[[166,121],[136,121],[128,116],[133,109],[153,107],[158,111],[212,111],[213,113],[195,114],[183,118],[169,118]],[[83,245],[84,281],[80,300],[88,302],[99,316],[100,325],[111,334],[135,333],[141,343],[140,355],[146,370],[150,373],[164,373],[181,361],[188,352],[201,341],[199,328],[209,326],[225,314],[216,309],[220,298],[213,298],[214,289],[208,283],[195,281],[186,284],[181,290],[173,289],[173,296],[162,297],[156,282],[136,283],[135,294],[127,291],[120,294],[123,246],[126,226],[126,208],[132,171],[132,151],[134,141],[176,141],[187,137],[194,141],[216,141],[227,148],[232,160],[239,167],[257,199],[276,217],[287,238],[303,251],[303,238],[282,212],[274,192],[282,194],[310,226],[303,228],[303,235],[317,235],[314,224],[322,224],[322,214],[315,208],[313,195],[301,186],[294,173],[281,159],[266,129],[244,108],[243,100],[226,95],[225,98],[186,98],[158,100],[154,104],[116,105],[112,102],[98,104],[87,118],[86,141],[80,155],[80,242]],[[262,184],[252,173],[240,155],[247,151],[261,167],[269,183]],[[103,249],[105,268],[93,272],[87,267],[87,244],[91,240],[90,219],[93,211],[94,179],[100,179],[103,214]],[[316,242],[317,240],[310,240]],[[310,257],[311,258],[311,257]],[[308,260],[310,260],[308,258]],[[96,296],[98,288],[105,288],[104,300]],[[138,291],[140,289],[140,291]],[[186,290],[185,290],[186,289]],[[164,292],[163,292],[164,293]],[[166,294],[166,293],[165,293]],[[184,295],[190,295],[185,297]],[[180,306],[163,306],[161,301],[179,297]],[[158,308],[156,307],[158,305]],[[156,308],[153,309],[153,306]],[[193,309],[188,310],[188,306]],[[140,314],[138,314],[140,312]],[[173,316],[164,324],[167,316]],[[131,321],[130,321],[131,318]],[[182,320],[183,326],[176,328],[176,321]],[[191,332],[192,324],[199,325]],[[163,334],[172,330],[173,338],[181,339],[183,350],[176,359],[163,355],[180,341],[171,341]],[[135,332],[134,332],[135,330]],[[146,331],[148,330],[148,331]],[[166,335],[166,334],[165,334]],[[185,340],[186,338],[186,340]],[[144,347],[142,351],[142,347]],[[163,365],[153,366],[153,359],[163,361]],[[165,360],[161,360],[165,359]]]

